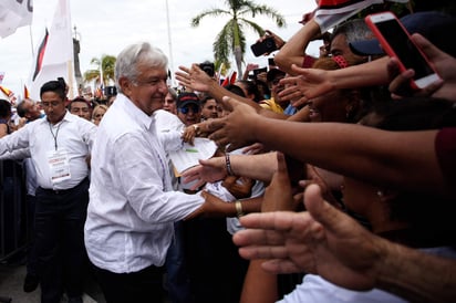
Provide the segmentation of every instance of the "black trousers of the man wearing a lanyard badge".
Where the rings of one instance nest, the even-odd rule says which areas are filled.
[[[52,191],[37,189],[35,253],[41,302],[58,303],[66,291],[81,296],[86,263],[84,223],[89,203],[89,179],[76,187]]]

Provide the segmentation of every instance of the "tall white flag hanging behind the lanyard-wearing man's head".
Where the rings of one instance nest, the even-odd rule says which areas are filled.
[[[32,66],[30,97],[40,100],[41,86],[63,77],[70,86],[69,97],[74,96],[73,38],[69,0],[59,0],[46,40],[40,42]]]

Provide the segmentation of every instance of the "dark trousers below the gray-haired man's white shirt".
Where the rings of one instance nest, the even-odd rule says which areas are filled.
[[[152,265],[131,273],[114,273],[95,265],[94,270],[106,303],[163,303],[163,268]]]

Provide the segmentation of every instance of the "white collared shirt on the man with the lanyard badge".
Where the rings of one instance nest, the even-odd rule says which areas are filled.
[[[0,155],[29,148],[37,169],[38,186],[54,190],[70,189],[89,176],[86,157],[95,134],[96,125],[66,112],[63,119],[55,125],[46,118],[40,118],[1,138]],[[65,152],[71,176],[58,182],[52,181],[49,159],[50,153],[55,150]]]

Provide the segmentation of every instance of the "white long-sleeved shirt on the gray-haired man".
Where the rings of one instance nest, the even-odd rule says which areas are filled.
[[[117,95],[92,153],[84,238],[96,267],[127,273],[164,264],[174,222],[204,202],[172,190],[166,150],[182,146],[180,133],[157,134],[154,115]]]

